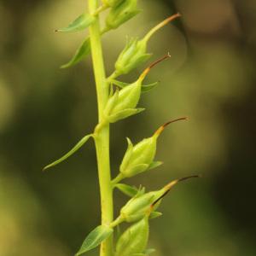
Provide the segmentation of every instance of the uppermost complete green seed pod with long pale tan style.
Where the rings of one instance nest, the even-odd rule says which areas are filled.
[[[118,60],[115,62],[115,77],[121,74],[130,73],[132,69],[143,62],[148,61],[151,56],[151,54],[147,53],[148,40],[154,35],[154,32],[157,32],[161,27],[166,26],[166,24],[179,16],[179,14],[176,14],[163,20],[160,24],[154,26],[142,40],[138,40],[137,38],[128,40],[125,49],[122,50]]]

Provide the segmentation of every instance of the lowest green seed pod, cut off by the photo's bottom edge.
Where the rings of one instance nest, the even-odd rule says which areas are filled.
[[[148,244],[149,225],[148,216],[136,224],[132,224],[119,237],[116,244],[115,256],[131,256],[143,253]]]

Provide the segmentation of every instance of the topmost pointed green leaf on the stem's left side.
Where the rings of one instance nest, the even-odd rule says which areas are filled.
[[[56,32],[79,32],[90,26],[95,20],[96,18],[89,14],[79,15],[67,27],[57,29]]]

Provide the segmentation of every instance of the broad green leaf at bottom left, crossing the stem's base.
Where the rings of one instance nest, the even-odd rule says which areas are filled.
[[[102,241],[106,240],[108,236],[113,233],[113,229],[108,226],[97,226],[96,229],[92,230],[90,234],[85,238],[79,252],[76,256],[90,251],[91,249],[97,247]]]

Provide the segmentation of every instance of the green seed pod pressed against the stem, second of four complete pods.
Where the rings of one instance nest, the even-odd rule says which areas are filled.
[[[155,61],[144,70],[136,82],[126,85],[125,88],[117,90],[113,96],[110,96],[106,108],[104,109],[105,118],[108,119],[110,123],[143,111],[143,108],[136,108],[141,96],[143,80],[152,67],[168,57],[170,57],[170,55],[166,55],[159,61]]]

